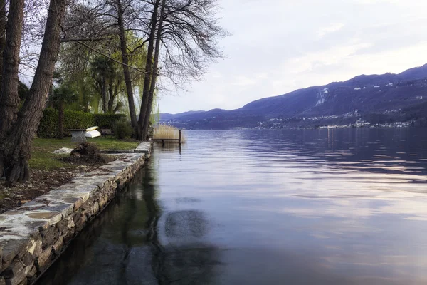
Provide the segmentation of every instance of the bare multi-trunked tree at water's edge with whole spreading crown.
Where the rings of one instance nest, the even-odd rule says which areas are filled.
[[[68,25],[67,41],[75,41],[117,62],[90,44],[114,43],[114,37],[119,38],[127,103],[137,139],[147,138],[159,76],[181,86],[183,81],[198,80],[208,63],[221,58],[217,38],[226,36],[226,32],[218,26],[216,3],[217,0],[98,0],[85,8],[83,4],[78,6],[77,11],[84,9],[80,14],[85,19],[73,17],[72,22],[78,21],[79,25]],[[144,65],[132,66],[130,58],[144,48],[147,50]],[[142,73],[142,84],[135,82],[131,70]],[[139,118],[135,110],[135,86],[142,86]]]

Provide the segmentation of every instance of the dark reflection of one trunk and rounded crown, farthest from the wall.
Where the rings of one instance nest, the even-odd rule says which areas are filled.
[[[208,227],[199,211],[169,212],[164,223],[154,199],[152,176],[144,178],[144,201],[147,205],[147,241],[152,251],[152,272],[158,284],[211,284],[218,265],[218,249],[200,242]],[[159,227],[164,227],[167,244],[160,242]]]

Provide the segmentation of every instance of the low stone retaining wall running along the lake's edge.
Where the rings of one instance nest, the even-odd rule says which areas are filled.
[[[149,158],[149,149],[147,153],[122,155],[0,214],[0,285],[33,283],[132,179]]]

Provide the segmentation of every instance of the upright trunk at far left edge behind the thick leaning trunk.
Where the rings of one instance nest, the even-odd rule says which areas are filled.
[[[11,0],[9,6],[0,93],[0,140],[6,137],[6,133],[16,120],[16,113],[19,110],[18,68],[23,26],[23,6],[24,0]]]

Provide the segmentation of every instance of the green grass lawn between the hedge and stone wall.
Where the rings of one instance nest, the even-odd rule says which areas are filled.
[[[88,138],[88,142],[94,142],[101,150],[127,150],[135,149],[139,142],[135,140],[117,140],[115,138]],[[60,167],[77,167],[58,160],[61,155],[54,155],[53,150],[61,147],[74,148],[77,144],[71,142],[71,138],[63,140],[36,138],[33,140],[31,160],[29,165],[37,170],[54,170]],[[64,156],[64,155],[62,155]],[[65,155],[66,156],[66,155]]]

